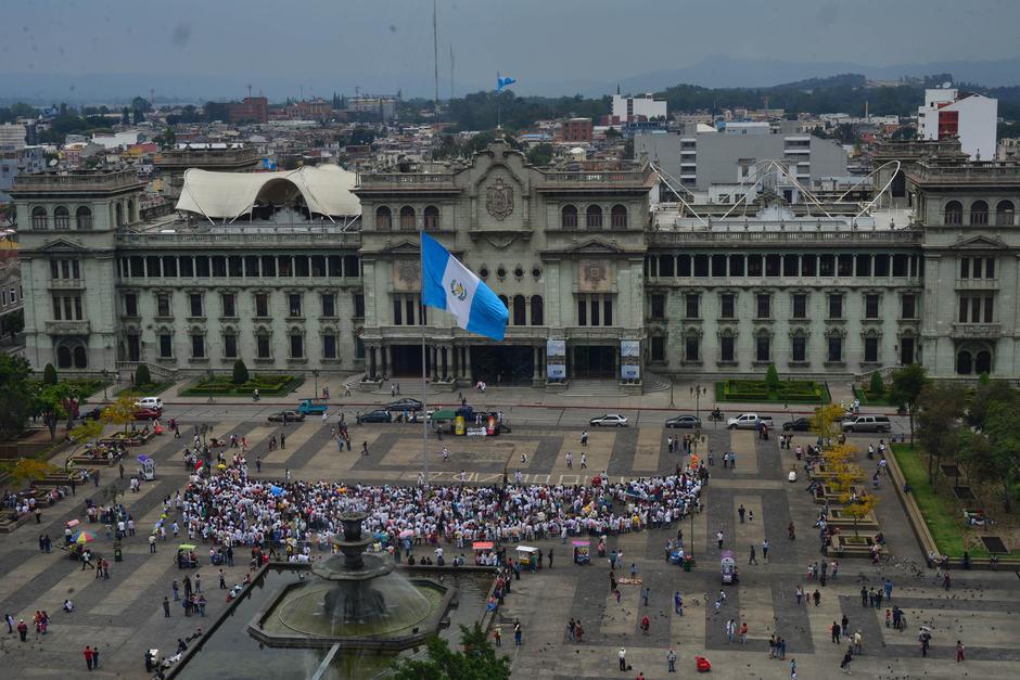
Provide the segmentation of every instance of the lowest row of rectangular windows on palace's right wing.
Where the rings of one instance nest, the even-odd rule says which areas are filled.
[[[773,361],[773,338],[768,335],[758,335],[754,339],[754,361],[764,363]],[[798,363],[808,362],[807,358],[807,337],[795,335],[790,338],[790,361]],[[839,363],[845,361],[845,338],[840,335],[826,337],[826,361]],[[879,337],[864,336],[863,342],[863,362],[878,363],[880,361]],[[901,341],[901,361],[913,363],[914,358],[914,338],[902,337]],[[653,335],[649,343],[652,361],[666,360],[666,341],[662,335]],[[718,338],[718,360],[722,362],[736,362],[737,360],[737,338],[732,335],[724,335]],[[686,362],[700,362],[701,358],[701,337],[698,335],[688,335],[684,338],[684,357]]]

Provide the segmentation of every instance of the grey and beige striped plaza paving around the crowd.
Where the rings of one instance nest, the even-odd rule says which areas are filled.
[[[503,470],[511,482],[520,471],[527,483],[585,484],[600,471],[613,478],[641,476],[655,472],[672,472],[683,459],[670,453],[666,437],[683,431],[664,431],[662,411],[637,412],[664,406],[641,399],[620,400],[612,403],[600,398],[597,406],[586,410],[583,405],[564,403],[545,397],[543,408],[528,411],[511,390],[496,390],[487,398],[494,403],[506,403],[513,413],[512,435],[486,439],[446,437],[444,441],[430,441],[430,478],[433,484],[501,483]],[[536,393],[528,393],[536,394]],[[380,397],[380,400],[382,397]],[[518,399],[518,406],[511,405]],[[662,396],[659,396],[662,399]],[[353,420],[355,410],[366,396],[347,399],[343,409]],[[343,400],[337,400],[343,401]],[[357,402],[357,403],[356,403]],[[589,428],[590,439],[585,451],[587,469],[581,469],[578,442],[583,421],[602,408],[629,408],[639,416],[638,426],[627,429],[598,431]],[[559,408],[554,422],[552,409]],[[421,429],[413,425],[352,426],[354,450],[339,453],[330,439],[330,424],[318,419],[301,425],[269,425],[265,414],[272,405],[217,403],[204,405],[184,400],[171,402],[167,416],[178,416],[182,432],[193,424],[213,424],[217,435],[247,436],[253,448],[250,463],[255,457],[263,461],[264,477],[282,477],[285,470],[303,478],[339,478],[344,480],[415,484],[421,469]],[[335,414],[335,410],[334,410]],[[528,425],[528,423],[532,423]],[[273,433],[286,433],[286,448],[268,451],[267,439]],[[837,580],[829,580],[821,591],[820,606],[796,606],[793,592],[799,583],[813,591],[817,583],[805,579],[809,562],[818,560],[818,541],[811,524],[817,514],[808,495],[806,483],[786,482],[786,473],[794,464],[791,451],[780,451],[778,441],[757,440],[751,433],[706,429],[705,448],[716,452],[712,479],[703,496],[704,512],[696,515],[693,525],[681,525],[688,543],[693,537],[697,566],[684,573],[664,561],[666,540],[675,536],[670,530],[647,530],[621,537],[611,537],[609,548],[622,550],[624,562],[635,563],[645,586],[651,588],[648,607],[641,606],[640,587],[621,586],[621,602],[609,590],[609,566],[594,560],[590,566],[571,564],[570,546],[559,540],[539,541],[543,549],[552,548],[554,567],[539,574],[525,574],[514,583],[500,613],[505,644],[502,651],[513,657],[514,677],[546,678],[633,678],[639,671],[646,678],[676,677],[666,673],[666,652],[674,647],[678,655],[680,675],[691,675],[693,657],[711,659],[717,677],[785,678],[790,676],[790,659],[798,663],[799,678],[828,678],[839,673],[843,645],[830,641],[829,626],[845,614],[851,630],[859,629],[864,636],[864,654],[855,657],[851,668],[855,675],[868,677],[1015,677],[1015,664],[1020,660],[1020,633],[1016,617],[1020,581],[1013,573],[955,572],[954,586],[948,592],[941,588],[933,570],[923,569],[921,576],[909,567],[921,564],[922,556],[907,525],[903,510],[888,488],[879,491],[882,502],[877,515],[889,539],[893,559],[887,566],[872,567],[858,561],[845,560]],[[806,442],[807,436],[800,437]],[[859,438],[866,441],[865,437]],[[877,437],[876,437],[877,439]],[[27,524],[15,533],[0,537],[0,612],[30,621],[36,610],[46,610],[52,617],[49,633],[21,643],[15,634],[0,636],[4,677],[81,677],[87,675],[81,654],[85,645],[101,650],[100,669],[92,676],[144,677],[142,654],[148,647],[160,647],[170,653],[180,637],[188,637],[208,618],[186,618],[180,607],[173,608],[169,619],[164,618],[162,601],[171,595],[170,581],[181,578],[173,564],[173,539],[161,543],[156,554],[149,553],[144,537],[162,511],[161,502],[182,488],[187,480],[180,450],[187,439],[157,437],[133,453],[146,453],[158,464],[156,482],[144,483],[138,493],[127,492],[128,510],[139,519],[141,530],[125,541],[124,562],[113,563],[110,541],[101,537],[97,549],[111,560],[111,579],[97,580],[91,570],[81,572],[78,563],[67,560],[62,551],[52,554],[39,552],[39,534],[48,533],[61,541],[64,523],[84,519],[84,501],[90,495],[97,502],[105,502],[102,489],[77,489],[73,499],[47,510],[42,524]],[[362,441],[370,456],[358,456]],[[449,446],[448,462],[441,460],[439,449]],[[866,446],[866,445],[865,445]],[[722,467],[724,450],[737,452],[736,470]],[[565,454],[574,453],[572,469],[566,466]],[[521,454],[526,456],[522,462]],[[126,465],[130,467],[130,465]],[[254,464],[251,465],[254,471]],[[102,487],[124,485],[116,479],[116,469],[104,469]],[[803,479],[803,475],[801,475]],[[125,485],[126,486],[126,485]],[[740,523],[737,509],[743,505],[753,511],[753,521]],[[798,538],[787,538],[787,525],[793,522]],[[99,525],[89,528],[100,529]],[[736,553],[740,565],[739,585],[727,587],[727,601],[718,610],[714,605],[719,590],[718,549],[716,531],[724,534],[724,549]],[[766,564],[761,554],[761,541],[772,544]],[[748,565],[751,544],[757,549],[758,565]],[[243,551],[244,552],[244,551]],[[239,581],[245,572],[241,566],[227,568],[228,585]],[[207,562],[206,562],[207,564]],[[216,570],[199,569],[204,590],[209,593],[207,615],[216,616],[225,607],[224,592],[218,589]],[[193,576],[193,574],[192,574]],[[893,604],[906,611],[908,628],[905,632],[885,628],[884,608],[860,606],[862,585],[877,586],[881,578],[892,578],[895,588]],[[678,590],[685,600],[685,616],[674,613],[672,594]],[[74,614],[61,612],[61,603],[72,598],[78,607]],[[650,633],[640,631],[640,619],[648,615]],[[582,644],[571,643],[565,637],[569,618],[581,619],[585,627]],[[519,618],[524,628],[524,645],[514,647],[509,634],[510,623]],[[729,618],[749,626],[745,644],[730,644],[725,624]],[[929,658],[920,658],[917,629],[921,624],[933,627],[933,644]],[[767,640],[776,633],[787,640],[786,660],[767,658]],[[955,644],[960,639],[967,645],[966,663],[955,663]],[[507,644],[510,642],[511,644]],[[633,670],[619,671],[617,652],[627,650]],[[302,673],[298,673],[301,677]]]

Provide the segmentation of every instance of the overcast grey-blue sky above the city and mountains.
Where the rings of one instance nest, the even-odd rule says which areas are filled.
[[[888,65],[1020,56],[1018,0],[438,0],[441,93],[496,70],[611,82],[706,56]],[[432,89],[431,0],[3,0],[0,72]],[[268,87],[268,86],[267,86]],[[324,90],[324,91],[323,91]],[[235,95],[237,93],[225,93]]]

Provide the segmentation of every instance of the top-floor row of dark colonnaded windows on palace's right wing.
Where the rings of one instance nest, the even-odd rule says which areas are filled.
[[[646,277],[922,277],[925,260],[906,254],[649,255]]]

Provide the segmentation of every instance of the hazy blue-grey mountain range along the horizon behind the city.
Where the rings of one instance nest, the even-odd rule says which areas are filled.
[[[574,80],[530,80],[521,78],[514,91],[521,95],[573,95],[601,97],[616,91],[630,93],[656,92],[668,87],[689,84],[707,88],[767,88],[813,78],[825,78],[837,74],[863,74],[872,80],[897,80],[905,76],[952,74],[959,82],[985,87],[1020,85],[1020,59],[998,61],[945,61],[925,64],[893,64],[867,66],[852,62],[792,62],[781,60],[748,60],[725,55],[707,56],[681,68],[650,70],[604,82],[590,76]],[[302,92],[293,79],[259,78],[256,91],[263,91],[270,100],[282,101],[299,94],[331,97],[334,91],[350,94],[357,85],[374,92],[403,90],[406,98],[431,98],[431,82],[417,80],[399,82],[394,77],[372,78],[365,74],[337,75],[332,78],[306,78],[310,81]],[[117,103],[130,101],[136,95],[156,92],[156,100],[169,102],[204,102],[207,100],[239,99],[246,94],[247,79],[242,76],[187,76],[160,74],[110,74],[66,76],[55,74],[0,74],[0,104],[27,101],[34,104],[55,102]],[[464,91],[490,89],[489,82],[460,82],[458,95]],[[313,92],[311,87],[315,87]]]

